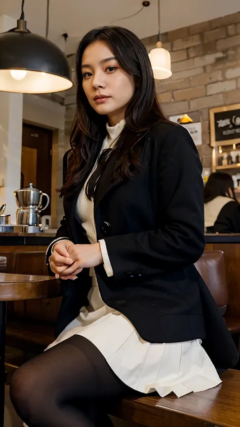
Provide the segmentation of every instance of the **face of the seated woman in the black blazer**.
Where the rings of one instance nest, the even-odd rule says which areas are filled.
[[[107,114],[114,126],[125,117],[134,91],[134,79],[119,65],[108,44],[96,41],[82,58],[83,89],[98,114]]]

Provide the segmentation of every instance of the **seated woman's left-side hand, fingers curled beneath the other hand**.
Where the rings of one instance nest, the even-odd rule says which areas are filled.
[[[62,272],[73,263],[68,253],[70,246],[74,246],[70,240],[60,240],[60,242],[56,243],[53,247],[53,253],[50,256],[49,261],[51,270],[57,279],[62,279]],[[76,279],[76,276],[68,276],[68,279],[74,280]]]

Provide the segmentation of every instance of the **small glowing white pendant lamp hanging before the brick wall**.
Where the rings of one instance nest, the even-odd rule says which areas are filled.
[[[172,75],[171,56],[169,51],[164,49],[161,42],[160,30],[160,0],[158,0],[158,42],[156,47],[149,53],[149,59],[152,66],[153,76],[156,80],[168,79]]]

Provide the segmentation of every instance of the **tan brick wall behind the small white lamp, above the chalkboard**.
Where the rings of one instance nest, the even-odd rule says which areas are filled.
[[[149,52],[156,36],[142,41]],[[167,117],[189,113],[202,121],[198,151],[211,167],[209,108],[240,103],[240,12],[165,33],[163,42],[173,75],[156,81],[159,101]]]

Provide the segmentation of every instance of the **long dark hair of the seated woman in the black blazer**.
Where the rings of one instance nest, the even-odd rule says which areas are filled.
[[[158,122],[168,122],[158,105],[149,57],[139,38],[122,27],[102,27],[89,31],[80,42],[76,55],[76,114],[70,136],[72,153],[67,179],[60,189],[61,197],[74,195],[82,188],[107,135],[108,118],[98,114],[89,104],[83,90],[81,71],[85,49],[99,40],[109,45],[123,70],[134,77],[136,86],[126,109],[126,126],[116,143],[116,149],[119,149],[114,170],[116,182],[130,178],[134,168],[140,166],[140,141],[149,128]],[[103,168],[103,162],[99,162],[98,171],[92,176],[87,187],[89,199],[94,195],[96,181]]]

